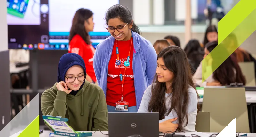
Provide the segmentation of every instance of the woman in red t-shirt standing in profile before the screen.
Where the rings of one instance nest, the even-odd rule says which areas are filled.
[[[93,28],[92,11],[83,8],[77,10],[69,33],[68,53],[79,54],[84,59],[87,73],[86,80],[97,84],[93,69],[95,48],[91,45],[90,36],[88,34],[93,31]]]

